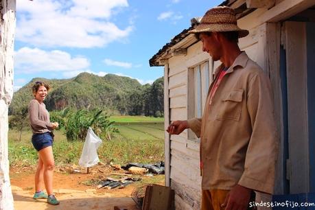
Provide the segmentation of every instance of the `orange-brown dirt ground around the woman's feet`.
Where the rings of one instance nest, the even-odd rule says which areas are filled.
[[[54,172],[54,194],[60,205],[48,205],[46,200],[34,200],[34,173],[36,167],[10,168],[10,180],[16,210],[88,210],[88,209],[114,209],[114,206],[124,207],[128,210],[137,209],[131,198],[132,191],[137,187],[156,183],[164,185],[163,175],[141,176],[141,181],[132,183],[122,189],[97,189],[93,180],[104,180],[110,176],[121,178],[116,174],[126,174],[124,170],[113,170],[108,165],[97,165],[86,174],[86,169],[72,166],[56,167]],[[132,175],[135,177],[135,175]],[[139,176],[137,176],[139,177]]]

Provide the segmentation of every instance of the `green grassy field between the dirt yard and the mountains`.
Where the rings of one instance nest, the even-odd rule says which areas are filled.
[[[102,162],[124,165],[130,162],[156,163],[164,160],[164,125],[163,118],[142,116],[115,116],[119,133],[110,141],[103,140],[98,149]],[[54,141],[54,157],[56,165],[78,164],[82,152],[82,141],[67,141],[62,130],[56,130]],[[19,141],[19,131],[9,130],[9,160],[10,165],[34,165],[37,152],[33,148],[30,130],[23,131]]]

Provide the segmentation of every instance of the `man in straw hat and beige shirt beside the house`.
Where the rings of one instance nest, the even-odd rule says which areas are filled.
[[[178,135],[191,128],[200,137],[202,209],[247,209],[253,191],[272,194],[277,141],[270,81],[240,51],[235,11],[208,10],[190,33],[202,50],[222,65],[215,70],[201,119],[174,121],[167,128]]]

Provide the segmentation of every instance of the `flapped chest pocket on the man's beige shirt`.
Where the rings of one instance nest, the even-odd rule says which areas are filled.
[[[235,89],[224,94],[216,119],[239,121],[242,112],[243,92],[242,89]]]

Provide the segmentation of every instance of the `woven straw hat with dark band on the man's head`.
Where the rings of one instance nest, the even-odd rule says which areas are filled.
[[[191,34],[201,32],[238,32],[238,37],[242,38],[248,35],[248,30],[242,30],[237,26],[235,11],[226,6],[219,6],[208,10],[202,17],[199,25]]]

